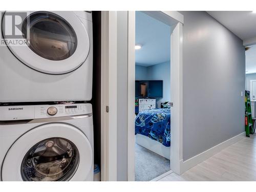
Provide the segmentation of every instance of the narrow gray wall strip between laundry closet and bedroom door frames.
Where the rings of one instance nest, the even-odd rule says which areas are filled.
[[[117,180],[127,181],[127,11],[117,12]]]

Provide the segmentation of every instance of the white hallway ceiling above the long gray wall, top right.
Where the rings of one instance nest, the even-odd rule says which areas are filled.
[[[242,40],[256,37],[256,13],[252,11],[207,11]]]

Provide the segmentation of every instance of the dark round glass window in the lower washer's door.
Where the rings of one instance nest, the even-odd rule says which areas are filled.
[[[20,173],[24,181],[68,181],[79,163],[77,147],[63,138],[35,144],[25,155]]]

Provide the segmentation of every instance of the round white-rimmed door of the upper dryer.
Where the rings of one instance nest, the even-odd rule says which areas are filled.
[[[6,42],[13,27],[8,14],[11,12],[5,12],[2,22]],[[90,40],[86,27],[74,12],[28,11],[27,15],[21,21],[26,43],[23,46],[7,43],[20,61],[48,74],[69,73],[82,65],[89,54]],[[20,40],[18,36],[12,38],[14,42]]]

